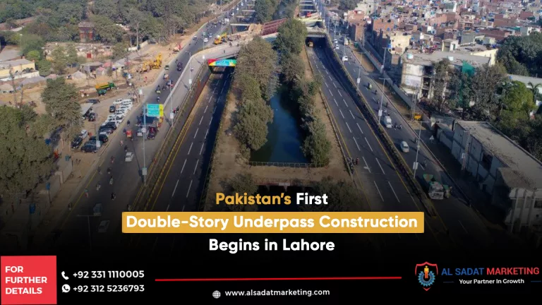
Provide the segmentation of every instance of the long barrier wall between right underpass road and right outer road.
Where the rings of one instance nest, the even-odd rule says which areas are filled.
[[[387,136],[387,133],[383,130],[383,127],[380,126],[380,122],[376,118],[376,116],[371,112],[370,110],[370,104],[367,102],[365,97],[361,94],[361,91],[358,89],[356,85],[356,81],[351,78],[350,74],[344,68],[344,65],[342,64],[342,60],[339,58],[339,55],[335,52],[333,52],[333,47],[331,44],[331,37],[329,34],[326,35],[326,42],[327,47],[325,48],[325,54],[326,56],[332,60],[332,62],[335,64],[335,66],[339,66],[341,69],[340,73],[342,76],[347,78],[347,84],[349,85],[347,87],[347,90],[349,90],[351,93],[353,93],[359,101],[363,101],[361,103],[358,103],[361,112],[366,117],[367,122],[371,124],[373,127],[373,130],[376,131],[376,134],[380,138],[380,140],[383,142],[383,145],[385,146],[386,150],[390,152],[390,155],[392,157],[393,162],[395,163],[397,169],[399,169],[399,172],[401,172],[402,176],[406,178],[406,181],[408,182],[411,189],[414,191],[414,195],[418,197],[419,201],[423,204],[423,207],[426,209],[426,211],[429,213],[430,216],[435,217],[437,215],[435,208],[433,207],[433,204],[430,202],[430,199],[427,197],[426,193],[421,188],[421,185],[416,181],[414,177],[410,174],[409,166],[406,165],[406,162],[402,157],[399,156],[399,153],[397,151],[397,148],[395,148],[395,145],[393,144],[393,141],[391,140],[390,136]],[[330,54],[330,52],[332,54]],[[356,102],[354,100],[354,102]]]

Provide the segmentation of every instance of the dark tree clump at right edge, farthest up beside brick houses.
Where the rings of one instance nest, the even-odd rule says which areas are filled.
[[[521,76],[542,75],[542,33],[509,36],[502,43],[497,59],[508,73]]]

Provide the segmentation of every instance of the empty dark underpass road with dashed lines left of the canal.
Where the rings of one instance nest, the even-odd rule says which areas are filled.
[[[150,211],[198,210],[232,71],[232,68],[222,69],[209,79],[193,116],[179,135],[181,138],[174,148],[174,159],[157,184],[159,192],[150,199]],[[171,251],[181,238],[182,234],[139,234],[133,236],[129,246],[163,254]]]

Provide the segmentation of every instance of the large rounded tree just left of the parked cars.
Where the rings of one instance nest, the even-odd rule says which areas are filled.
[[[42,101],[47,113],[54,118],[56,126],[68,129],[66,138],[73,138],[80,132],[81,107],[77,100],[76,87],[66,83],[65,78],[47,80],[47,88],[42,92]]]

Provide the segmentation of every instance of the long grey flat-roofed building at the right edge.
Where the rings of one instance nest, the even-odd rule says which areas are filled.
[[[453,126],[452,155],[506,213],[511,232],[542,229],[542,162],[488,122]]]

